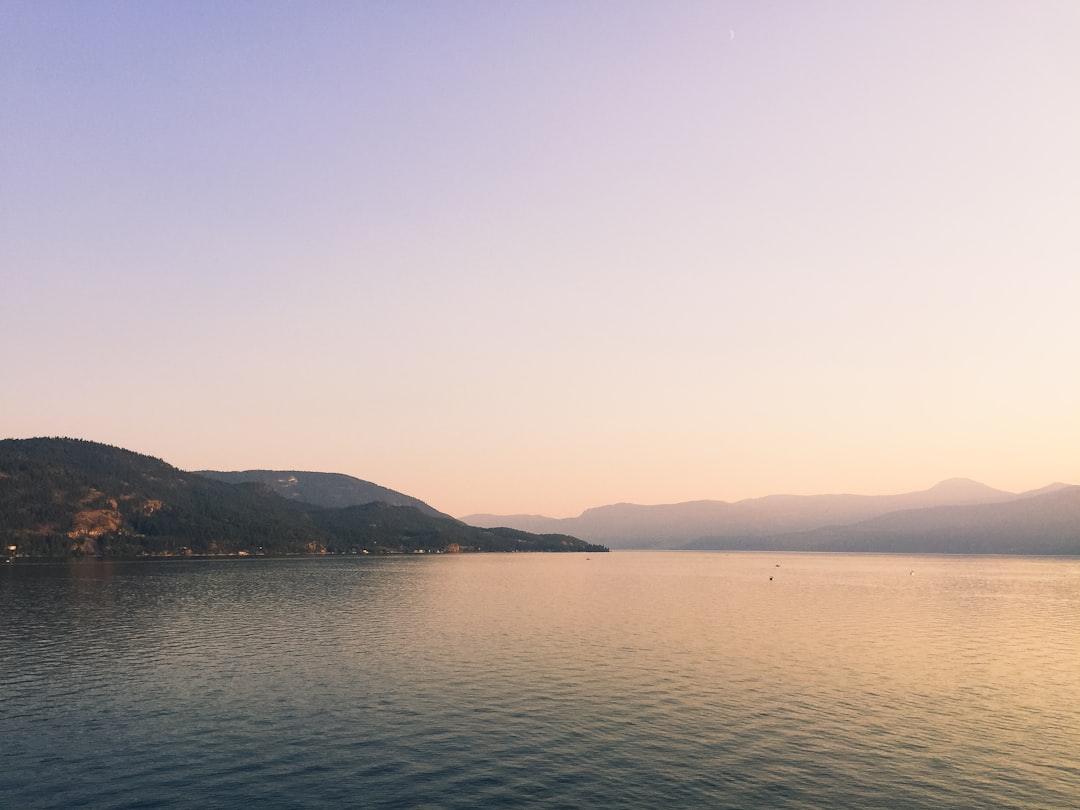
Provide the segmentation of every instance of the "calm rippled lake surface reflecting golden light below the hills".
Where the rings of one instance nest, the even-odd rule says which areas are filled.
[[[5,808],[1080,806],[1078,559],[8,565],[0,676]]]

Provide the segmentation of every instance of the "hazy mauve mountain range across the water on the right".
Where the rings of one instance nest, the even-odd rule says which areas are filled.
[[[463,519],[567,532],[615,549],[1080,554],[1080,486],[1067,484],[1015,494],[951,478],[903,495],[619,503],[579,517],[475,514]]]

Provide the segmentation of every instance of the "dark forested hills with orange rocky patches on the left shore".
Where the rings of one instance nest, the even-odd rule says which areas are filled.
[[[348,476],[266,474],[274,481],[226,483],[94,442],[3,440],[0,557],[606,551],[562,535],[469,526]],[[282,497],[275,484],[347,502]]]

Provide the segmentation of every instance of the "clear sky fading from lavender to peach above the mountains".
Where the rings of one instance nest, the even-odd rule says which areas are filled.
[[[1080,484],[1080,3],[0,0],[0,436],[455,515]]]

